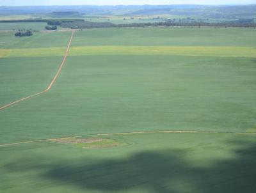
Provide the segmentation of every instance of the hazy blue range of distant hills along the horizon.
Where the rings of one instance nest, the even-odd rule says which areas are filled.
[[[81,15],[200,15],[214,18],[256,18],[256,4],[246,6],[143,5],[143,6],[0,6],[1,14],[45,14],[50,17]]]

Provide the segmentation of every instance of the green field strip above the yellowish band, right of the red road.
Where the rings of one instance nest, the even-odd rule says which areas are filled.
[[[73,46],[255,47],[255,29],[213,27],[109,28],[77,31]]]

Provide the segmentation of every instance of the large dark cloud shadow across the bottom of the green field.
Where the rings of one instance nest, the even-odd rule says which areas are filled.
[[[85,164],[84,160],[45,164],[13,163],[7,169],[41,169],[41,177],[79,189],[117,192],[256,192],[256,144],[232,141],[243,148],[235,158],[218,160],[205,166],[193,166],[185,159],[186,151],[145,151],[131,157]],[[23,162],[24,163],[24,162]],[[34,164],[34,166],[33,166]]]

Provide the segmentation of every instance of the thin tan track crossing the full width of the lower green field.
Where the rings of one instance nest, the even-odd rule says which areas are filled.
[[[72,137],[61,137],[61,138],[54,138],[54,139],[38,139],[34,141],[23,141],[19,143],[8,143],[8,144],[0,144],[0,147],[4,146],[14,146],[17,144],[25,144],[25,143],[36,143],[40,141],[56,141],[61,139],[71,139],[76,137],[83,137],[83,136],[99,136],[99,135],[131,135],[131,134],[156,134],[156,133],[175,133],[175,134],[250,134],[256,135],[256,133],[246,133],[246,132],[214,132],[214,131],[197,131],[197,130],[164,130],[164,131],[146,131],[146,132],[122,132],[122,133],[108,133],[108,134],[90,134],[90,135],[80,135],[80,136],[72,136]]]

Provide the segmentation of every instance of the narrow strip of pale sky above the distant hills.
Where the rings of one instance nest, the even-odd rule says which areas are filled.
[[[0,0],[0,6],[116,4],[256,4],[256,0]]]

